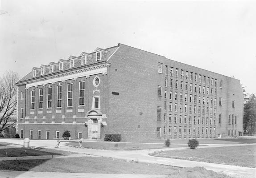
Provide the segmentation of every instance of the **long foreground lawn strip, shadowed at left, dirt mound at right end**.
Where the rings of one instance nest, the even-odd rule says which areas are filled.
[[[72,172],[72,173],[101,173],[101,174],[163,174],[169,177],[198,177],[230,178],[223,174],[217,174],[202,167],[177,168],[159,164],[147,164],[140,162],[127,162],[124,160],[106,157],[79,157],[79,158],[54,158],[39,160],[10,160],[0,161],[2,170],[23,170],[40,172]]]

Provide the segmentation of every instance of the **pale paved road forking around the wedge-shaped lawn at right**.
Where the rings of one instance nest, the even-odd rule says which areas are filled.
[[[1,140],[0,140],[1,142]],[[4,139],[2,142],[8,143],[16,143],[16,144],[23,144],[22,140],[6,140]],[[179,167],[195,167],[195,166],[203,166],[207,170],[213,170],[218,173],[227,174],[231,176],[239,176],[239,177],[246,177],[246,178],[255,178],[256,177],[256,169],[255,168],[247,168],[247,167],[240,167],[240,166],[230,166],[230,165],[223,165],[223,164],[215,164],[215,163],[208,163],[208,162],[195,162],[189,160],[181,160],[181,159],[171,159],[171,158],[160,158],[160,157],[153,157],[149,156],[149,153],[153,153],[154,151],[161,151],[161,150],[180,150],[180,149],[187,149],[187,148],[168,148],[168,149],[156,149],[156,150],[132,150],[132,151],[111,151],[111,150],[93,150],[93,149],[80,149],[74,147],[65,146],[63,143],[60,145],[59,148],[54,148],[56,146],[57,141],[52,140],[31,140],[31,146],[37,147],[46,147],[55,150],[63,150],[63,151],[71,151],[80,154],[90,154],[95,156],[104,156],[116,159],[124,159],[124,160],[134,160],[138,162],[146,162],[146,163],[156,163],[156,164],[163,164],[169,166],[179,166]],[[221,147],[221,146],[239,146],[239,145],[255,145],[256,144],[228,144],[228,145],[208,145],[208,146],[201,146],[198,147],[202,149],[204,147]],[[122,176],[123,177],[123,176]]]

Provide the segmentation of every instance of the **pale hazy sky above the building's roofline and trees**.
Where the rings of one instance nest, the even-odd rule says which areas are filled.
[[[256,93],[256,1],[0,0],[0,75],[127,44]]]

